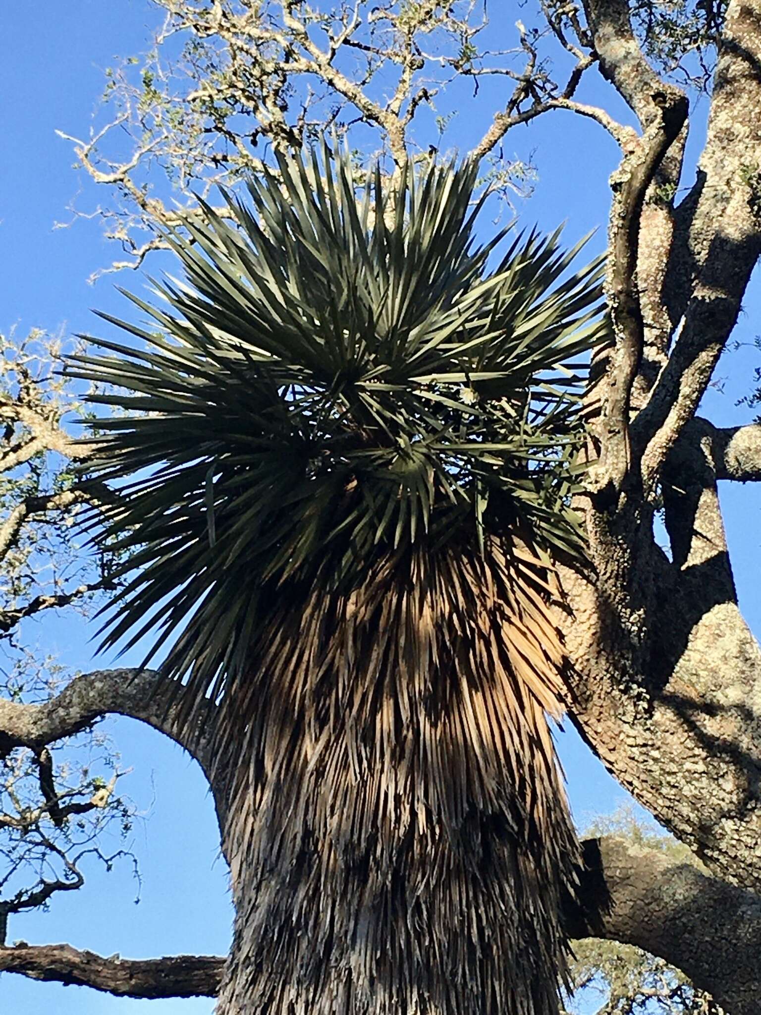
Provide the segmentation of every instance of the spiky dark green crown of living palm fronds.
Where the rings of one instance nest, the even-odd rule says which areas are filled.
[[[536,587],[547,553],[580,549],[600,261],[561,280],[581,245],[532,232],[489,270],[503,232],[474,247],[473,163],[410,166],[394,192],[376,168],[359,194],[347,155],[279,168],[249,185],[255,211],[225,195],[235,224],[205,207],[166,238],[187,283],[155,284],[166,309],[130,296],[156,330],[101,315],[144,347],[98,339],[70,366],[126,410],[91,465],[128,480],[97,538],[136,551],[108,639],[179,633],[167,669],[204,691],[246,667],[264,590],[488,537],[524,547],[513,577]]]

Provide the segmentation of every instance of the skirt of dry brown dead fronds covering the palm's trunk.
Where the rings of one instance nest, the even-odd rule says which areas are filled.
[[[228,697],[218,1015],[557,1011],[575,839],[504,608],[466,572],[455,610],[378,574],[289,609]]]

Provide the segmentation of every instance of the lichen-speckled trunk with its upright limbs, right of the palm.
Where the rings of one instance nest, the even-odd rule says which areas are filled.
[[[646,143],[651,119],[679,97],[643,69],[627,3],[586,6],[603,71],[638,116]],[[621,784],[712,870],[756,890],[761,651],[738,607],[716,480],[758,475],[761,434],[691,420],[761,252],[747,170],[761,142],[760,58],[761,5],[734,0],[697,180],[673,211],[666,262],[663,217],[642,216],[638,282],[616,242],[618,194],[639,163],[625,155],[614,176],[616,351],[603,381],[599,464],[584,503],[594,566],[587,578],[566,573],[563,582],[578,728]],[[651,191],[645,201],[663,199]],[[658,334],[645,326],[643,279],[650,321],[654,308],[668,322]],[[633,325],[618,320],[627,285],[638,306]],[[640,368],[645,343],[663,362],[649,376]],[[622,357],[638,364],[634,396]],[[671,560],[653,536],[661,494]]]

